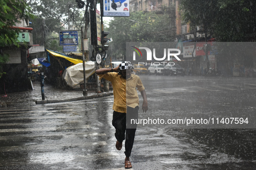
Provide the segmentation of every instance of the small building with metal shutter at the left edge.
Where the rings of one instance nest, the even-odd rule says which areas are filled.
[[[0,79],[0,94],[26,91],[30,88],[28,80],[27,54],[32,46],[32,28],[28,20],[20,20],[13,28],[19,28],[19,47],[15,45],[1,47],[3,53],[9,54],[9,61],[3,65],[3,77]]]

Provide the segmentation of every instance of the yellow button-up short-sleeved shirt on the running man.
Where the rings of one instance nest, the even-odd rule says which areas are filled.
[[[117,72],[107,72],[99,75],[100,79],[104,78],[112,82],[114,104],[113,110],[120,113],[126,113],[126,106],[135,108],[139,106],[139,96],[136,91],[145,90],[139,76],[131,74],[129,79],[124,79]]]

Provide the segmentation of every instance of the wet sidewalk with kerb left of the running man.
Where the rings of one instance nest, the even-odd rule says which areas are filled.
[[[53,85],[44,85],[45,100],[42,101],[41,86],[40,82],[33,82],[33,88],[35,90],[15,92],[0,94],[0,107],[8,106],[25,106],[25,105],[36,105],[45,103],[58,103],[67,101],[78,101],[90,98],[100,98],[105,96],[113,95],[113,91],[103,92],[100,94],[95,93],[95,91],[88,91],[87,96],[83,96],[83,91],[67,90],[55,88]]]

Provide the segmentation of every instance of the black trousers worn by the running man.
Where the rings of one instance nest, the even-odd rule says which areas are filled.
[[[127,107],[127,113],[113,112],[112,125],[115,127],[115,136],[118,142],[125,140],[126,157],[130,157],[137,125],[130,125],[130,119],[138,118],[139,107]],[[126,116],[127,115],[127,116]],[[127,120],[127,123],[126,123]]]

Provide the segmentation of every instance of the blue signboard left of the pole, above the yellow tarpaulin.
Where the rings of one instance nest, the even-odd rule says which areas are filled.
[[[78,31],[59,31],[60,45],[78,45]]]

